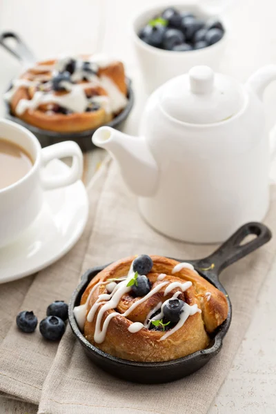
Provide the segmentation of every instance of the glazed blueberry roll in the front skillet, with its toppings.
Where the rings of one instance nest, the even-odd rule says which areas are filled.
[[[208,347],[227,314],[224,293],[193,266],[147,255],[104,268],[74,309],[91,344],[137,362],[168,361]]]

